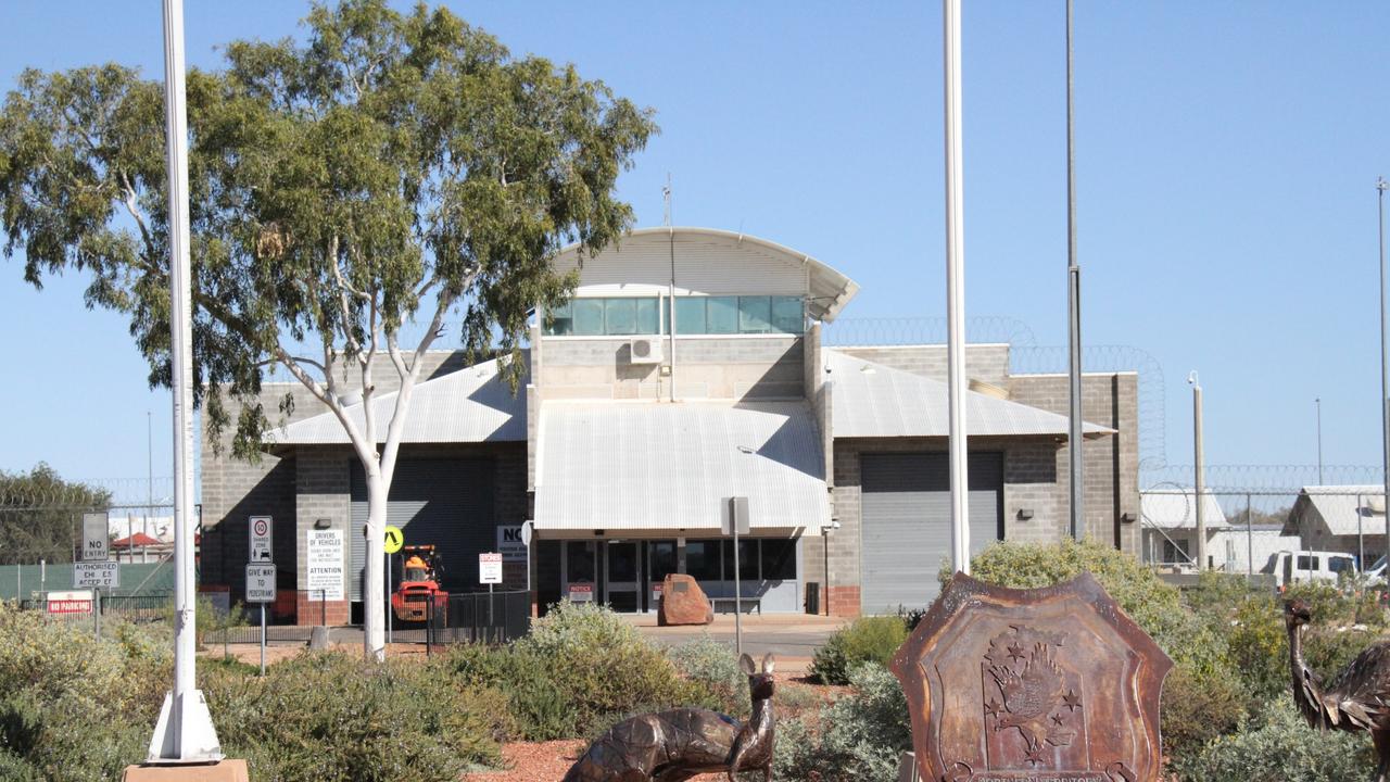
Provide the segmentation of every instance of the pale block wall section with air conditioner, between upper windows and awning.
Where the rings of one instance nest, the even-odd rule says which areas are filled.
[[[670,351],[670,341],[663,341]],[[545,372],[539,374],[546,399],[657,399],[669,395],[660,365],[632,363],[621,338],[546,338]],[[670,355],[666,356],[670,362]],[[799,399],[805,395],[802,338],[692,337],[676,341],[677,398]]]

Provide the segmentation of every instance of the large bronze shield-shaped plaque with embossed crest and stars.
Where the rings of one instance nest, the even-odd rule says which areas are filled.
[[[1036,590],[956,573],[892,660],[940,782],[1156,781],[1172,667],[1090,573]]]

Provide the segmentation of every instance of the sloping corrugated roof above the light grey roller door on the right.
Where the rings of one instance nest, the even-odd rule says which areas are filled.
[[[826,351],[833,383],[835,437],[945,437],[947,384],[940,380]],[[974,436],[1066,436],[1066,416],[1019,402],[966,391],[966,433]],[[1115,434],[1087,423],[1088,438]]]

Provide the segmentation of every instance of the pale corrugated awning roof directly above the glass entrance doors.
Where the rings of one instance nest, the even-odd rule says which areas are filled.
[[[538,437],[537,529],[719,529],[724,497],[755,527],[828,516],[803,402],[550,401]]]

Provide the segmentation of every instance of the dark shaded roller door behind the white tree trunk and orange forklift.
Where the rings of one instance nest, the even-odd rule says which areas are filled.
[[[498,547],[492,515],[491,459],[402,459],[391,483],[386,523],[402,529],[406,545],[432,544],[443,565],[441,586],[449,591],[478,589],[478,554]],[[352,469],[352,600],[361,600],[367,559],[367,480]],[[393,562],[399,580],[399,562]]]

